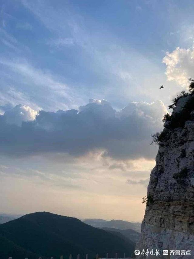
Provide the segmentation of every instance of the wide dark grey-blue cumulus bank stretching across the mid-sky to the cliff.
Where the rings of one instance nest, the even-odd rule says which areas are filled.
[[[30,155],[62,152],[73,156],[102,150],[115,159],[153,158],[151,134],[161,130],[166,112],[162,101],[132,102],[115,111],[105,100],[90,101],[78,110],[37,112],[17,105],[0,116],[0,152]],[[111,168],[110,168],[111,169]]]

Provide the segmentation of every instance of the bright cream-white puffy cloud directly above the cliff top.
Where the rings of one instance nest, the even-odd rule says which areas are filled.
[[[168,81],[176,81],[179,85],[186,87],[188,78],[194,76],[194,47],[189,49],[177,47],[171,53],[167,52],[162,62],[167,66]]]

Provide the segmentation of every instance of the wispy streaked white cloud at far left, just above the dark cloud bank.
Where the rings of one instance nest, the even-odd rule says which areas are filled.
[[[28,104],[34,108],[41,107],[41,109],[57,111],[58,109],[77,108],[75,102],[82,104],[82,99],[78,93],[70,89],[63,76],[53,74],[52,72],[32,66],[27,60],[24,59],[1,59],[2,65],[1,75],[4,79],[2,81],[2,89],[0,92],[0,101],[7,99],[8,102],[13,104],[24,103],[26,98]],[[8,69],[8,72],[6,70]],[[8,87],[6,80],[14,78],[14,85]],[[15,95],[15,99],[11,101],[8,89],[14,89],[16,93],[22,95],[21,98]],[[28,94],[30,92],[30,95]],[[46,93],[46,94],[45,94]],[[28,96],[28,97],[27,97]],[[3,101],[4,103],[4,101]],[[25,105],[28,105],[25,102]]]

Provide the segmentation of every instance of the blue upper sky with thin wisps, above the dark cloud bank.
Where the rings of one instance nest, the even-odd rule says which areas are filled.
[[[166,51],[189,46],[182,34],[192,25],[192,2],[186,7],[181,1],[56,2],[2,4],[5,84],[30,95],[29,101],[45,110],[78,106],[90,97],[108,99],[116,108],[161,97],[141,88],[150,83],[158,89],[166,79],[161,62]],[[23,70],[10,67],[15,63]],[[25,77],[38,72],[62,84],[61,93],[48,93],[55,99],[54,107],[40,97],[44,86]]]

